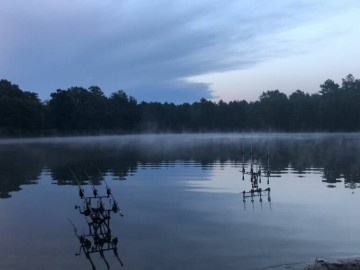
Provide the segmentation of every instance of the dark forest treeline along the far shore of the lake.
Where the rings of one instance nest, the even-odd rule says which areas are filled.
[[[289,96],[264,91],[258,100],[192,104],[138,102],[123,90],[107,97],[100,87],[70,87],[41,101],[0,80],[0,136],[55,136],[142,132],[355,132],[360,131],[360,80],[349,74],[339,85]]]

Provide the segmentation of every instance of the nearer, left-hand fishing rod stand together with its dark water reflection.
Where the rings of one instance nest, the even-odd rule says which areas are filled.
[[[91,255],[100,254],[107,269],[110,269],[110,265],[105,257],[105,252],[112,251],[120,265],[124,266],[117,250],[118,238],[112,236],[110,227],[111,213],[120,213],[121,216],[123,215],[118,203],[111,193],[110,187],[105,182],[105,179],[103,179],[105,182],[106,195],[99,195],[93,179],[88,176],[88,180],[92,184],[92,195],[85,196],[84,189],[81,187],[75,174],[72,171],[71,173],[78,183],[79,197],[83,201],[83,206],[75,206],[75,209],[78,209],[80,214],[85,217],[88,227],[88,232],[80,235],[78,234],[78,230],[74,223],[70,221],[74,228],[75,235],[80,242],[79,252],[75,255],[78,256],[81,254],[81,251],[83,251],[86,258],[91,263],[92,269],[96,270]],[[85,174],[87,173],[85,172]],[[101,173],[99,174],[102,177]],[[106,201],[108,201],[107,204]]]

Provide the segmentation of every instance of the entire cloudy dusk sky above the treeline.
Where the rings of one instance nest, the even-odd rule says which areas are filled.
[[[1,0],[0,79],[42,100],[254,101],[360,78],[358,0]]]

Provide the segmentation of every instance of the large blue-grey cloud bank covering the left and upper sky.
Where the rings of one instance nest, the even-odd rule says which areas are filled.
[[[211,98],[208,84],[186,78],[289,53],[276,35],[327,14],[323,1],[183,2],[3,0],[1,75],[41,98],[75,85],[138,100]]]

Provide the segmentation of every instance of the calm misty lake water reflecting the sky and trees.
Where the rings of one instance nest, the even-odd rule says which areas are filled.
[[[243,198],[251,149],[254,169],[269,165],[258,187],[270,201]],[[75,256],[71,223],[87,234],[89,218],[74,207],[83,201],[71,171],[86,196],[111,188],[123,269],[296,269],[359,256],[360,134],[1,140],[0,269],[121,268],[113,250],[106,262],[89,254],[95,268],[84,250]]]

